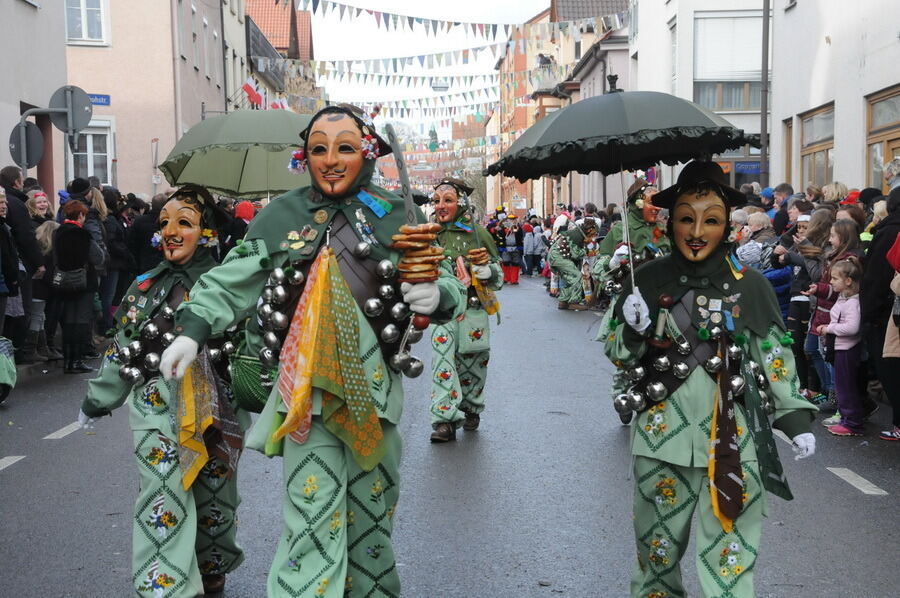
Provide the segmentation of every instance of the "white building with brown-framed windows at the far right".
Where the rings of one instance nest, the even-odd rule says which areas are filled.
[[[772,182],[881,188],[900,156],[900,6],[772,4]]]

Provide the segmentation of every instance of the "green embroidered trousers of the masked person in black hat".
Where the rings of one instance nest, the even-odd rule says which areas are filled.
[[[697,573],[705,598],[752,598],[753,568],[762,531],[763,496],[755,461],[741,463],[744,508],[725,533],[710,504],[705,467],[682,467],[648,457],[634,462],[637,565],[631,598],[683,598],[681,558],[697,511]]]

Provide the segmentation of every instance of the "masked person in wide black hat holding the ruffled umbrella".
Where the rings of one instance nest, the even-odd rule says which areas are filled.
[[[606,353],[632,381],[617,409],[637,412],[634,598],[685,596],[695,511],[702,595],[754,596],[765,492],[792,498],[772,428],[797,458],[815,452],[816,408],[798,393],[772,287],[730,254],[743,201],[718,164],[687,164],[654,197],[672,214],[672,254],[637,269],[614,307]]]

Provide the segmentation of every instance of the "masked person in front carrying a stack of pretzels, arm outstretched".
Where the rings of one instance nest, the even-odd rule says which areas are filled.
[[[211,335],[247,320],[235,380],[264,389],[247,445],[281,456],[284,527],[270,597],[396,597],[405,351],[462,313],[465,291],[433,246],[435,224],[371,182],[390,153],[369,115],[329,106],[291,167],[312,185],[274,199],[177,312],[160,369],[181,377]],[[240,366],[240,367],[237,367]],[[238,371],[240,370],[240,371]],[[255,373],[254,373],[255,372]]]

